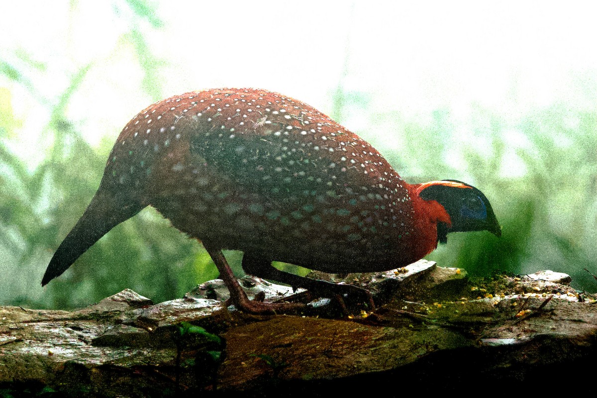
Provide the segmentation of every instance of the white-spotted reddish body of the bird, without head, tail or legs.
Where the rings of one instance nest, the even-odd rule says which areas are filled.
[[[426,218],[438,215],[414,220],[413,186],[376,149],[275,92],[188,92],[147,107],[118,137],[100,190],[128,192],[221,248],[324,271],[404,266],[436,245]]]

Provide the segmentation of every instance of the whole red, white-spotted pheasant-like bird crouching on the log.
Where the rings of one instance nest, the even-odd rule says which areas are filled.
[[[42,286],[146,206],[202,242],[230,301],[248,313],[299,304],[248,300],[223,249],[244,252],[247,274],[330,297],[364,289],[286,273],[272,261],[327,273],[386,271],[420,260],[448,233],[501,235],[475,187],[409,184],[371,144],[307,104],[217,88],[158,101],[128,122]]]

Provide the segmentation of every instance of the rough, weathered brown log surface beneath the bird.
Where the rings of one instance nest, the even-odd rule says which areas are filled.
[[[552,377],[592,383],[595,295],[574,291],[565,274],[473,283],[421,260],[315,277],[366,286],[377,309],[349,305],[357,309],[346,316],[320,300],[307,316],[250,316],[223,304],[219,280],[155,305],[127,289],[72,312],[0,307],[0,396],[405,396],[520,392]],[[242,284],[266,301],[291,294]]]

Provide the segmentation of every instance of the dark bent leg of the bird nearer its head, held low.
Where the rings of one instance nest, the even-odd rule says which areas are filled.
[[[368,306],[370,306],[371,309],[375,308],[373,297],[371,297],[371,293],[367,289],[359,288],[354,285],[338,285],[337,283],[327,282],[325,280],[310,279],[284,272],[273,267],[271,261],[247,253],[242,257],[242,269],[244,269],[246,273],[254,276],[286,283],[287,285],[293,286],[294,289],[297,287],[305,288],[311,294],[315,295],[315,297],[337,298],[339,299],[338,302],[340,303],[340,306],[343,306],[344,311],[346,311],[346,307],[344,307],[342,300],[344,294],[347,294],[350,297],[364,297]]]

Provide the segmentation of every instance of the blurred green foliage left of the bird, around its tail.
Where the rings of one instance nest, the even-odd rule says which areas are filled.
[[[139,24],[147,20],[159,27],[162,23],[144,2],[127,3],[134,16],[131,29],[122,35],[122,40],[133,43],[144,71],[144,90],[158,100],[162,96],[156,73],[160,61],[152,57],[139,33]],[[12,63],[0,61],[0,73],[50,110],[44,135],[50,138],[51,145],[39,149],[44,158],[34,171],[29,171],[10,149],[13,131],[21,121],[14,118],[11,92],[0,88],[0,184],[5,187],[0,191],[0,252],[4,254],[3,267],[21,270],[10,275],[13,280],[2,289],[0,301],[36,308],[72,308],[99,301],[124,286],[164,301],[181,297],[195,282],[217,277],[217,270],[210,267],[208,256],[201,252],[201,245],[147,208],[82,255],[75,267],[48,286],[41,299],[35,300],[28,294],[39,286],[44,264],[93,197],[110,147],[104,145],[101,155],[97,153],[66,116],[73,94],[80,90],[93,64],[73,73],[70,84],[58,98],[47,99],[29,78],[32,70],[44,73],[45,64],[24,53],[14,55]]]

